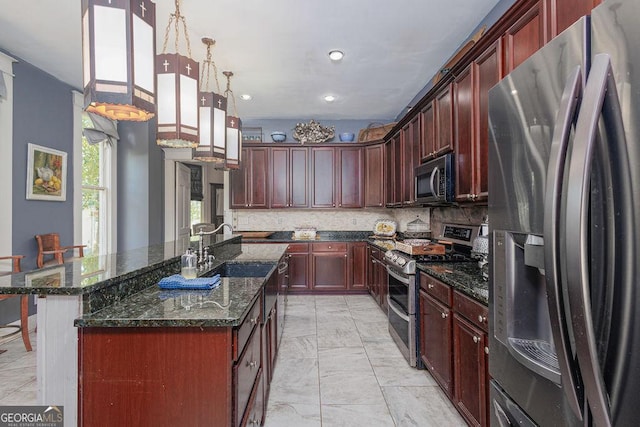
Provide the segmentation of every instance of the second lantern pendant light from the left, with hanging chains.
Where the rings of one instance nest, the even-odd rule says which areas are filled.
[[[198,62],[191,58],[191,44],[187,23],[180,14],[180,0],[176,11],[169,15],[162,53],[156,56],[156,85],[158,88],[158,134],[161,147],[195,148],[198,145]],[[171,24],[175,28],[175,53],[166,53]],[[184,30],[188,56],[178,50],[180,23]]]

